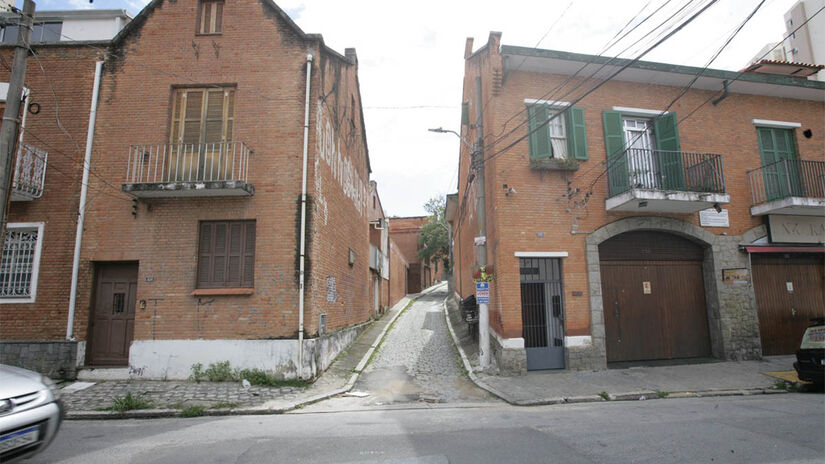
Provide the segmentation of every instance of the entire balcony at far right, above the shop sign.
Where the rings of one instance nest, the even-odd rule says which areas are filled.
[[[779,160],[748,171],[751,215],[825,216],[825,162]]]

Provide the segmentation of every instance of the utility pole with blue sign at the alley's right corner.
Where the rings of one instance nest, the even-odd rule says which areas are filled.
[[[478,236],[481,243],[478,245],[478,267],[487,266],[487,217],[484,200],[484,122],[482,113],[481,77],[476,77],[476,147],[473,157],[476,164],[476,216],[478,220]],[[490,305],[478,305],[478,354],[481,368],[490,366]]]

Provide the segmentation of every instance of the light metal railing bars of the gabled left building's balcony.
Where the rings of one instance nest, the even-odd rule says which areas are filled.
[[[246,182],[251,153],[244,142],[131,145],[126,183]]]

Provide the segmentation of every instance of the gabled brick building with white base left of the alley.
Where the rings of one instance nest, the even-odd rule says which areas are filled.
[[[355,50],[269,0],[155,0],[105,52],[71,327],[82,362],[148,378],[227,360],[326,368],[373,314]]]

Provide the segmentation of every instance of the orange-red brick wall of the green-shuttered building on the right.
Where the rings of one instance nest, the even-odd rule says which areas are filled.
[[[498,47],[493,49],[497,50]],[[494,81],[494,62],[494,57],[487,57],[486,52],[482,52],[480,56],[468,60],[468,76],[465,76],[467,99],[470,96],[468,92],[472,90],[467,82],[477,75],[477,67],[481,66],[485,101],[490,101],[484,107],[485,134],[492,134],[487,140],[488,157],[527,133],[524,126],[490,146],[495,135],[506,133],[507,129],[524,121],[524,99],[547,98],[544,95],[548,89],[555,88],[567,78],[514,71],[508,74],[504,85],[496,89],[496,95],[493,95],[490,83]],[[573,85],[575,82],[568,84],[565,89]],[[514,252],[566,251],[569,253],[569,257],[563,260],[566,334],[590,334],[586,233],[623,217],[645,215],[605,210],[607,181],[603,175],[606,155],[602,111],[610,110],[613,106],[661,110],[680,90],[677,87],[611,81],[577,103],[576,106],[584,109],[589,160],[581,163],[575,172],[530,170],[527,140],[487,162],[488,253],[491,263],[495,265],[496,274],[490,319],[497,332],[506,337],[521,336],[518,259],[514,257]],[[573,95],[581,92],[582,90],[574,91]],[[703,90],[691,90],[670,111],[675,111],[680,117],[687,115],[712,94]],[[558,99],[572,98],[568,96]],[[800,122],[803,129],[812,128],[814,135],[811,139],[803,137],[801,130],[796,131],[800,158],[822,160],[825,153],[823,114],[825,105],[821,102],[732,93],[720,105],[705,105],[691,118],[679,124],[683,151],[722,155],[727,192],[731,197],[731,203],[723,207],[728,210],[730,227],[708,228],[709,232],[739,235],[762,223],[762,218],[750,215],[751,194],[746,171],[761,165],[756,129],[751,120],[794,121]],[[512,115],[516,117],[508,121]],[[464,162],[461,172],[459,198],[463,197],[466,184],[467,165]],[[503,184],[514,187],[517,194],[506,196],[501,187]],[[591,185],[592,194],[584,204],[585,195],[591,192]],[[471,194],[473,188],[474,185],[470,187]],[[575,193],[576,189],[579,189],[578,194]],[[571,190],[573,195],[568,200]],[[468,208],[474,208],[474,205],[474,200],[470,198]],[[675,217],[699,225],[698,213],[647,215]],[[461,293],[466,296],[472,290],[464,276],[474,260],[468,252],[472,236],[467,230],[472,225],[468,227],[466,219],[462,225],[465,229],[462,230],[461,237],[464,247],[460,253],[463,278]],[[578,233],[573,234],[574,231]],[[573,292],[580,296],[574,296]],[[496,314],[497,311],[500,313]],[[500,322],[497,321],[499,316]]]

